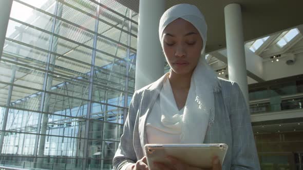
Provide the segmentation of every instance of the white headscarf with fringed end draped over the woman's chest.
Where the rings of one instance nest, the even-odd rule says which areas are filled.
[[[190,4],[179,4],[166,10],[160,19],[159,38],[162,42],[162,34],[166,26],[174,20],[182,18],[190,22],[199,31],[203,40],[201,57],[197,63],[197,67],[191,78],[191,88],[184,107],[181,128],[181,143],[203,143],[207,127],[214,122],[215,119],[215,100],[214,93],[221,90],[221,86],[214,70],[207,64],[205,59],[205,44],[207,39],[207,25],[203,14],[200,10]],[[163,44],[162,44],[163,45]],[[172,70],[171,70],[172,71]],[[164,106],[161,112],[166,112]],[[166,119],[166,120],[165,120]],[[167,123],[166,117],[161,120]],[[171,119],[173,120],[173,118]],[[179,122],[171,122],[179,123]],[[167,124],[167,126],[169,126]]]

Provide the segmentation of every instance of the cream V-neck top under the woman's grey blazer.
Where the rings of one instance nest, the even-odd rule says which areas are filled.
[[[148,143],[180,143],[183,112],[167,78],[146,121]]]

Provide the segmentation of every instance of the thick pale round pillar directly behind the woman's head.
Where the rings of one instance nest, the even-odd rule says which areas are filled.
[[[140,0],[135,90],[164,74],[164,54],[159,40],[159,22],[165,11],[163,0]]]

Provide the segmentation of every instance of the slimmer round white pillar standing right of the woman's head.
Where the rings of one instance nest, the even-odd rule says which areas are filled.
[[[242,14],[239,4],[230,4],[224,8],[226,47],[228,52],[229,79],[239,84],[247,103],[248,83],[246,73]]]

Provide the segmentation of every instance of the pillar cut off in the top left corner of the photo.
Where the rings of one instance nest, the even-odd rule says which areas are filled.
[[[2,57],[5,35],[12,4],[12,0],[0,1],[0,61]]]

